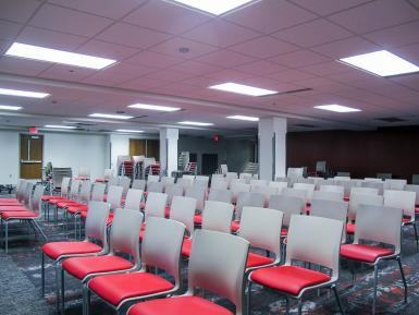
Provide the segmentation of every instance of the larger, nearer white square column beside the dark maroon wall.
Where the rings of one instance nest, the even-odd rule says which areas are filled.
[[[259,120],[259,178],[272,181],[286,174],[286,118]]]

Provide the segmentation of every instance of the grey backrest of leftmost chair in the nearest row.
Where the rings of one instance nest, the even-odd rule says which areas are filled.
[[[108,203],[90,201],[88,204],[85,223],[86,240],[98,240],[102,243],[103,249],[108,247],[107,222],[109,211]]]

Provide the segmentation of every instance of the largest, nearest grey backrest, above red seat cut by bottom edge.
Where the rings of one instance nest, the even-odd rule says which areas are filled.
[[[187,294],[202,288],[229,299],[236,315],[246,314],[244,307],[244,275],[249,242],[243,238],[215,231],[197,230],[188,265]]]

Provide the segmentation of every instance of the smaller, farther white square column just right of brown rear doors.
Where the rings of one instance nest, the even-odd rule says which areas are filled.
[[[160,129],[160,163],[168,177],[177,170],[177,140],[178,129]]]

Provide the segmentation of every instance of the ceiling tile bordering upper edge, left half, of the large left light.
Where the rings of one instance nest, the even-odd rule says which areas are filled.
[[[16,41],[23,44],[62,50],[73,50],[83,43],[86,43],[86,37],[58,33],[33,26],[26,26],[16,39]]]

